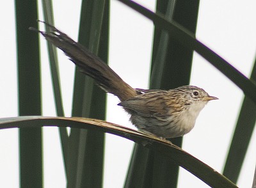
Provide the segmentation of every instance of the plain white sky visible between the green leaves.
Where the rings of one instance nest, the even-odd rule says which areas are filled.
[[[54,2],[55,25],[77,40],[81,1]],[[145,1],[143,1],[145,4]],[[154,10],[154,1],[145,4]],[[220,6],[221,4],[221,6]],[[196,37],[216,51],[234,67],[250,76],[256,51],[255,1],[200,1]],[[40,19],[42,19],[42,9]],[[0,6],[0,118],[17,116],[17,69],[15,47],[15,13],[13,1]],[[40,25],[42,29],[44,26]],[[111,1],[109,65],[134,88],[148,88],[152,50],[152,22]],[[35,35],[31,33],[31,35]],[[124,37],[125,36],[125,37]],[[51,77],[45,40],[42,38],[42,84],[44,116],[55,116]],[[59,51],[61,87],[65,115],[70,116],[74,65]],[[220,173],[243,101],[243,92],[197,54],[194,55],[191,84],[220,98],[209,102],[196,121],[195,128],[184,136],[183,149]],[[107,120],[133,127],[129,117],[116,106],[118,99],[108,95]],[[242,141],[242,139],[241,139]],[[239,187],[251,187],[256,163],[256,136],[239,177]],[[0,187],[19,187],[18,130],[0,130]],[[107,135],[104,187],[122,187],[133,143],[122,137]],[[124,150],[120,151],[120,148]],[[44,129],[44,185],[65,187],[58,129]],[[16,178],[15,178],[16,177]],[[180,170],[179,187],[208,187],[184,169]]]

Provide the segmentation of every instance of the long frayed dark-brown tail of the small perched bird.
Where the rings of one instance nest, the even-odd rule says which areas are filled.
[[[65,33],[56,29],[56,27],[45,24],[51,27],[52,32],[38,31],[32,27],[29,29],[40,32],[49,42],[65,52],[71,61],[81,68],[81,72],[95,79],[101,88],[116,95],[121,101],[137,95],[136,91],[100,58],[89,52],[83,45],[72,40]]]

